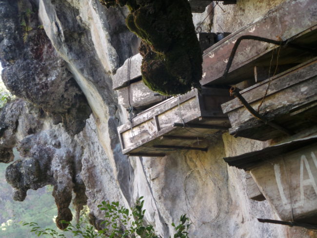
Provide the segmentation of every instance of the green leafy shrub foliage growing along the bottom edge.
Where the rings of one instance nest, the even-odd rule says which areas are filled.
[[[38,237],[50,237],[50,238],[69,238],[81,237],[81,238],[161,238],[155,234],[155,230],[152,225],[144,224],[143,210],[144,200],[140,197],[136,201],[136,205],[130,211],[124,206],[120,206],[119,202],[105,202],[103,201],[98,205],[99,209],[104,211],[104,220],[101,225],[104,228],[97,231],[94,226],[89,224],[88,212],[84,210],[81,213],[79,222],[75,225],[67,221],[62,221],[68,224],[68,227],[64,231],[56,231],[54,229],[41,228],[36,222],[23,222],[23,226],[30,226],[31,231]],[[182,215],[179,220],[179,224],[175,227],[174,238],[189,238],[188,229],[191,223],[186,215]]]

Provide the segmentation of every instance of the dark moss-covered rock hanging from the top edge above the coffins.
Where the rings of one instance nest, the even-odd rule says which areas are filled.
[[[142,39],[142,79],[150,89],[178,95],[200,87],[202,56],[187,0],[100,1],[130,9],[126,25]]]

